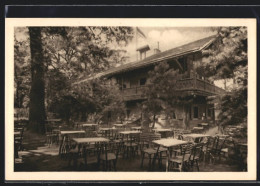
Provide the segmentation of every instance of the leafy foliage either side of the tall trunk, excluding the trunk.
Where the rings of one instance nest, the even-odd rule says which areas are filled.
[[[105,110],[100,109],[104,100],[97,102],[100,105],[96,104],[93,97],[83,96],[84,93],[89,92],[72,89],[72,83],[124,62],[125,51],[116,50],[115,46],[128,44],[133,37],[133,29],[131,27],[40,27],[40,29],[41,42],[39,43],[42,44],[37,48],[29,47],[29,42],[33,38],[29,37],[28,28],[19,27],[15,30],[15,35],[20,36],[22,40],[15,42],[15,72],[17,74],[15,106],[21,106],[25,101],[23,97],[29,94],[30,85],[33,84],[33,79],[29,78],[32,75],[29,61],[31,55],[35,55],[38,49],[38,53],[43,54],[38,61],[43,64],[45,76],[43,88],[48,111],[57,112],[66,121],[74,117],[75,113],[81,113],[84,119],[83,112],[86,113],[86,111],[105,114]],[[24,86],[25,90],[23,90]],[[107,87],[102,88],[104,91],[101,93],[106,93]],[[79,92],[76,95],[72,90],[74,93]],[[105,104],[106,110],[113,110],[112,98],[105,97],[104,99],[110,99],[110,102]]]

